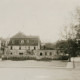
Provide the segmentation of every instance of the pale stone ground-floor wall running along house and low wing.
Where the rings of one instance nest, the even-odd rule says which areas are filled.
[[[23,54],[20,55],[20,53],[23,53]],[[60,55],[57,54],[56,50],[30,50],[30,52],[28,52],[24,48],[22,50],[19,50],[18,46],[16,47],[16,49],[14,47],[13,50],[7,49],[6,55],[8,57],[10,56],[35,57],[36,59],[43,59],[43,58],[58,59],[60,57]]]

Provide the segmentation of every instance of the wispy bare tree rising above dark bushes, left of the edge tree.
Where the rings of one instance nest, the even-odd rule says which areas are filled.
[[[62,40],[65,40],[67,42],[67,52],[69,54],[69,61],[71,61],[71,50],[72,50],[72,41],[76,37],[76,32],[74,29],[74,25],[70,24],[68,26],[64,26],[63,30],[61,31],[61,37]]]

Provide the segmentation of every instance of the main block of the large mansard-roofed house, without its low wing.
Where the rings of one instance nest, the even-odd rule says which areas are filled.
[[[21,32],[11,37],[8,44],[8,54],[10,55],[25,55],[39,49],[40,39],[38,36],[26,36]]]

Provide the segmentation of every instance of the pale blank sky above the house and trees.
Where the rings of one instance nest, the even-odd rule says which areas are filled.
[[[80,0],[0,0],[0,37],[18,32],[56,42]]]

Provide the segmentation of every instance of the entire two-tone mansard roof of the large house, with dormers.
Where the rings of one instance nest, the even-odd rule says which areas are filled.
[[[22,43],[23,41],[23,43]],[[19,32],[10,38],[8,45],[34,45],[37,46],[40,42],[38,36],[26,36],[25,34]]]

